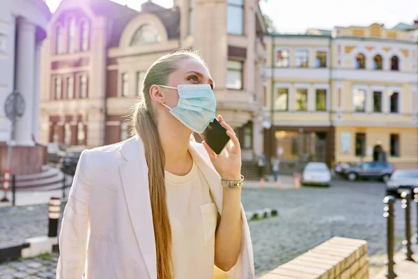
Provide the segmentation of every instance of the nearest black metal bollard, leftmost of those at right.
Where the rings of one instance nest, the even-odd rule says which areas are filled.
[[[385,264],[387,265],[387,279],[394,279],[398,277],[394,271],[394,246],[395,246],[395,224],[394,224],[394,204],[395,204],[395,198],[392,196],[386,196],[385,199],[383,199],[383,202],[385,203],[385,208],[383,211],[383,217],[387,218],[387,260],[385,261]]]

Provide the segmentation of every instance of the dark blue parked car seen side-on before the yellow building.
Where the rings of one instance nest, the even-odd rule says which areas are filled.
[[[349,167],[344,171],[344,176],[348,181],[357,179],[380,179],[388,181],[395,171],[394,165],[387,162],[363,162]]]

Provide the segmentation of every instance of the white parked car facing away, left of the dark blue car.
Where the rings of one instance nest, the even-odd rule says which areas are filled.
[[[331,172],[325,163],[309,162],[302,173],[302,185],[319,185],[329,187]]]

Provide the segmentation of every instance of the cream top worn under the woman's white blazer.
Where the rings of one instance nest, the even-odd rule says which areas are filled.
[[[193,161],[185,176],[165,172],[171,223],[173,279],[212,279],[217,207]]]

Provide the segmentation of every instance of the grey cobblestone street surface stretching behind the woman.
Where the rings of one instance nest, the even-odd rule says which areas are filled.
[[[365,239],[369,242],[370,255],[385,252],[384,196],[382,183],[368,181],[335,181],[331,188],[245,189],[242,204],[247,211],[265,207],[279,211],[278,217],[249,223],[256,274],[288,262],[332,236]],[[401,201],[396,202],[395,210],[399,245],[405,226]],[[413,204],[413,228],[417,227],[416,212]],[[47,205],[0,209],[0,216],[0,246],[47,233]],[[56,258],[57,255],[44,255],[2,264],[0,278],[54,278]]]

